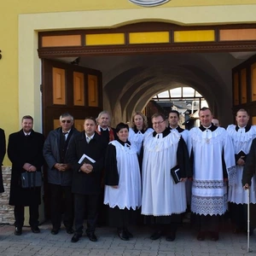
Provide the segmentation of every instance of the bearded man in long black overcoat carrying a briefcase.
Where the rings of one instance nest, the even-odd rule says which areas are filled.
[[[29,207],[29,224],[33,233],[39,233],[38,206],[41,203],[41,188],[23,189],[21,172],[41,172],[44,164],[44,136],[32,130],[32,116],[21,119],[22,129],[9,136],[8,156],[12,162],[9,205],[15,206],[15,235],[20,236],[24,224],[24,207]]]

